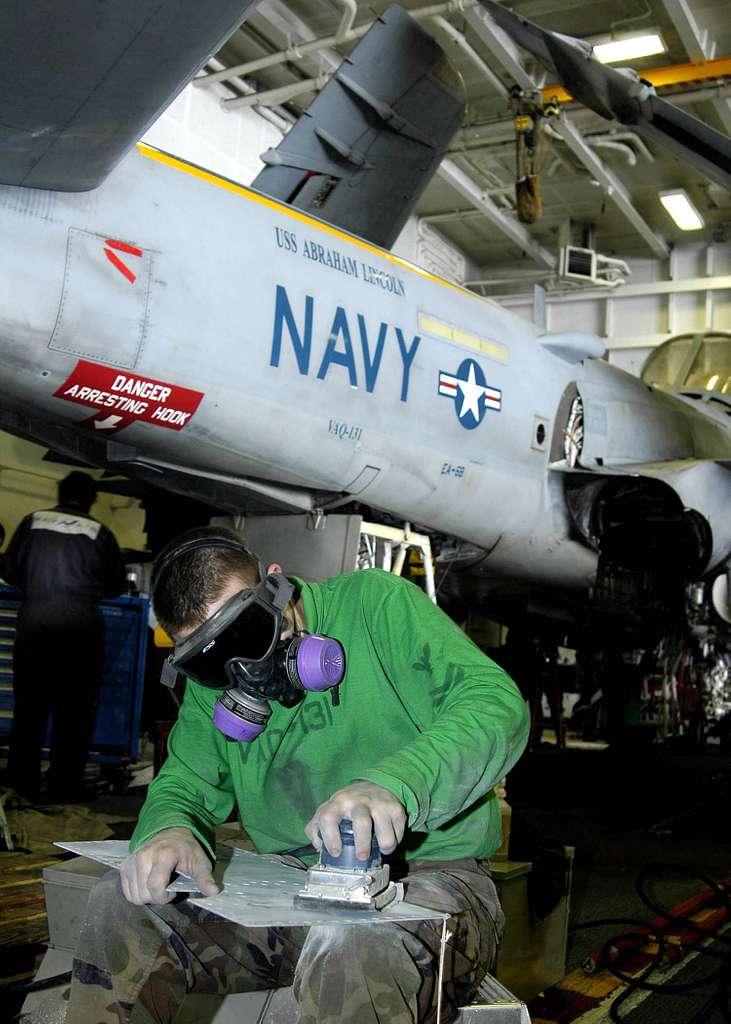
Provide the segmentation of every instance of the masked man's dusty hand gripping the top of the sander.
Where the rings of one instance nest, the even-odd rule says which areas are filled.
[[[403,839],[406,812],[392,793],[375,782],[353,782],[338,790],[320,804],[305,825],[305,833],[315,850],[325,845],[337,857],[342,843],[340,822],[350,818],[353,823],[355,855],[367,860],[371,854],[371,834],[375,829],[383,853],[392,853]]]

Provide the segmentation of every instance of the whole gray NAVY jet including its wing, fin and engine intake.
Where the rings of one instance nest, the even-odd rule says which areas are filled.
[[[4,429],[230,510],[356,501],[529,588],[586,590],[600,555],[723,574],[728,347],[670,393],[376,244],[462,101],[399,8],[270,156],[278,199],[134,144],[247,9],[0,2]],[[414,59],[375,65],[390,44]]]

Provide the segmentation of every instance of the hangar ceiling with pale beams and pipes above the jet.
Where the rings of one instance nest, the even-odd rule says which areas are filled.
[[[463,128],[417,213],[467,255],[473,273],[545,268],[559,241],[582,244],[589,239],[599,252],[620,258],[662,258],[674,244],[687,241],[658,199],[661,190],[676,187],[687,190],[705,219],[705,228],[692,233],[694,241],[731,240],[731,197],[725,189],[616,122],[574,103],[563,106],[562,118],[570,124],[563,138],[551,139],[546,157],[544,215],[535,224],[519,224],[508,92],[516,77],[522,76],[524,84],[526,74],[539,86],[552,83],[526,54],[511,52],[504,37],[496,36],[476,0],[429,5],[401,0],[401,5],[441,43],[465,84]],[[294,120],[386,6],[355,0],[263,0],[196,85],[211,88],[220,82],[228,109],[244,103]],[[728,0],[699,0],[692,8],[688,0],[519,0],[513,9],[544,28],[592,42],[658,32],[666,52],[635,60],[632,67],[643,75],[678,68],[665,76],[676,81],[658,86],[658,92],[731,134]],[[516,71],[516,55],[522,71]],[[697,67],[678,67],[691,61]]]

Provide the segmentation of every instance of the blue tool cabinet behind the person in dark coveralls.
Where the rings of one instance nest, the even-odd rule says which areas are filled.
[[[19,605],[18,592],[0,586],[0,752],[3,754],[7,754],[12,723],[12,648]],[[89,759],[122,765],[136,761],[138,756],[149,602],[142,597],[115,597],[104,599],[99,607],[104,624],[104,673]]]

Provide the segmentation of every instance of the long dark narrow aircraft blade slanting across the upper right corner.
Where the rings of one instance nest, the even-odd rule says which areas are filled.
[[[731,188],[731,138],[655,94],[634,72],[602,65],[580,39],[549,32],[503,7],[480,0],[490,17],[531,53],[580,103],[607,120],[670,150],[712,181]]]

